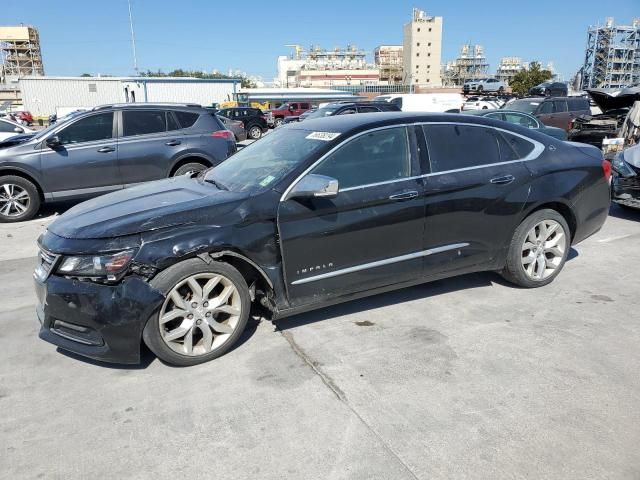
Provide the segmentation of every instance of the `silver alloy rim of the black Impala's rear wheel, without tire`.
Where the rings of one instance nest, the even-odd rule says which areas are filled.
[[[544,280],[562,265],[567,248],[566,232],[555,220],[537,223],[522,245],[522,267],[532,280]]]

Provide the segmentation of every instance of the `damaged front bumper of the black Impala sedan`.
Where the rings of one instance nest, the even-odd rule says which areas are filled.
[[[164,302],[145,280],[103,285],[51,275],[34,281],[41,339],[96,360],[140,362],[142,330]]]

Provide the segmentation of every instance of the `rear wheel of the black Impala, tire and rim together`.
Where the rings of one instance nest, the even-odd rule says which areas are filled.
[[[567,260],[570,236],[569,226],[558,212],[534,212],[516,228],[502,276],[524,288],[551,283]]]

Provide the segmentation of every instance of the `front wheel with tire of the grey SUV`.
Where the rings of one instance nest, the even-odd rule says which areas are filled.
[[[40,193],[26,178],[0,177],[0,222],[31,220],[40,210]]]

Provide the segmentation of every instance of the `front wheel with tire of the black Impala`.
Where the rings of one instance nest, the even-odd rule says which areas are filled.
[[[187,367],[213,360],[229,351],[247,325],[249,288],[231,265],[192,258],[160,272],[151,286],[166,299],[142,338],[163,362]]]

